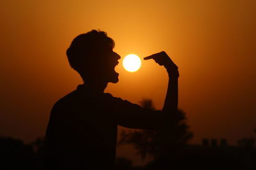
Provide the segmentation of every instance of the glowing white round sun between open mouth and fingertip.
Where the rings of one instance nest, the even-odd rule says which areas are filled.
[[[123,66],[129,72],[138,71],[141,66],[140,57],[135,54],[126,55],[123,60]]]

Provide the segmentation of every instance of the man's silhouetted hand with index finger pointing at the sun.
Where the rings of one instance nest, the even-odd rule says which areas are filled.
[[[166,52],[159,52],[148,57],[144,57],[144,60],[149,59],[153,59],[160,66],[164,66],[167,69],[169,75],[172,74],[179,77],[179,67],[172,61],[172,59],[170,59]]]

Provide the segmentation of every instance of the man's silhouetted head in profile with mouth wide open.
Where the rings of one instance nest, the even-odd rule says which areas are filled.
[[[83,78],[83,81],[118,81],[115,66],[120,55],[113,52],[115,42],[106,32],[92,30],[73,39],[67,49],[70,66]]]

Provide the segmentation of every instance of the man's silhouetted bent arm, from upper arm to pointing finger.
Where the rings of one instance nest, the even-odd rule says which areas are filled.
[[[165,52],[155,53],[144,58],[154,59],[160,66],[164,66],[168,72],[169,81],[164,106],[162,111],[152,111],[141,108],[138,104],[122,101],[120,98],[114,99],[116,114],[114,117],[119,125],[136,129],[152,129],[161,127],[170,118],[175,118],[178,105],[178,67],[172,62]]]

